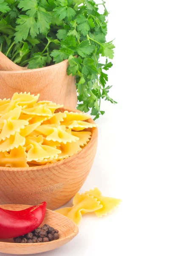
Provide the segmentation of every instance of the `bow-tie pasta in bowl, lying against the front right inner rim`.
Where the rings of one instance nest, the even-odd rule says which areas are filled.
[[[58,154],[58,160],[63,160],[65,158],[71,157],[82,150],[82,148],[80,148],[79,146],[79,142],[68,142],[66,144],[61,144],[58,148],[61,150],[61,153]]]

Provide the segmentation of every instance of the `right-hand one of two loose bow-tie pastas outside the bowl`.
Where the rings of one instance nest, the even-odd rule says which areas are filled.
[[[107,215],[121,202],[120,199],[102,196],[101,192],[97,188],[95,188],[94,190],[91,189],[89,191],[86,191],[85,194],[93,196],[97,199],[97,201],[100,201],[102,208],[95,211],[98,217],[102,217],[102,215]]]

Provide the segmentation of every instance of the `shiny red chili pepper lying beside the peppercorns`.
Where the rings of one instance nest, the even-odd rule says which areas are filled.
[[[10,211],[0,208],[0,239],[23,236],[40,226],[45,212],[46,202],[22,211]]]

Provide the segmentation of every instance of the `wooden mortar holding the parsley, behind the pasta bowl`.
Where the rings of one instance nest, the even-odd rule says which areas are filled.
[[[77,106],[75,77],[67,75],[68,60],[33,70],[0,71],[0,99],[27,92],[69,108]]]

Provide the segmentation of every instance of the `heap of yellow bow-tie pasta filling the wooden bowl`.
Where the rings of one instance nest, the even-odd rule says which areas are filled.
[[[64,111],[63,105],[38,101],[40,95],[14,93],[0,99],[0,166],[28,167],[54,163],[78,153],[91,138],[85,113]]]

